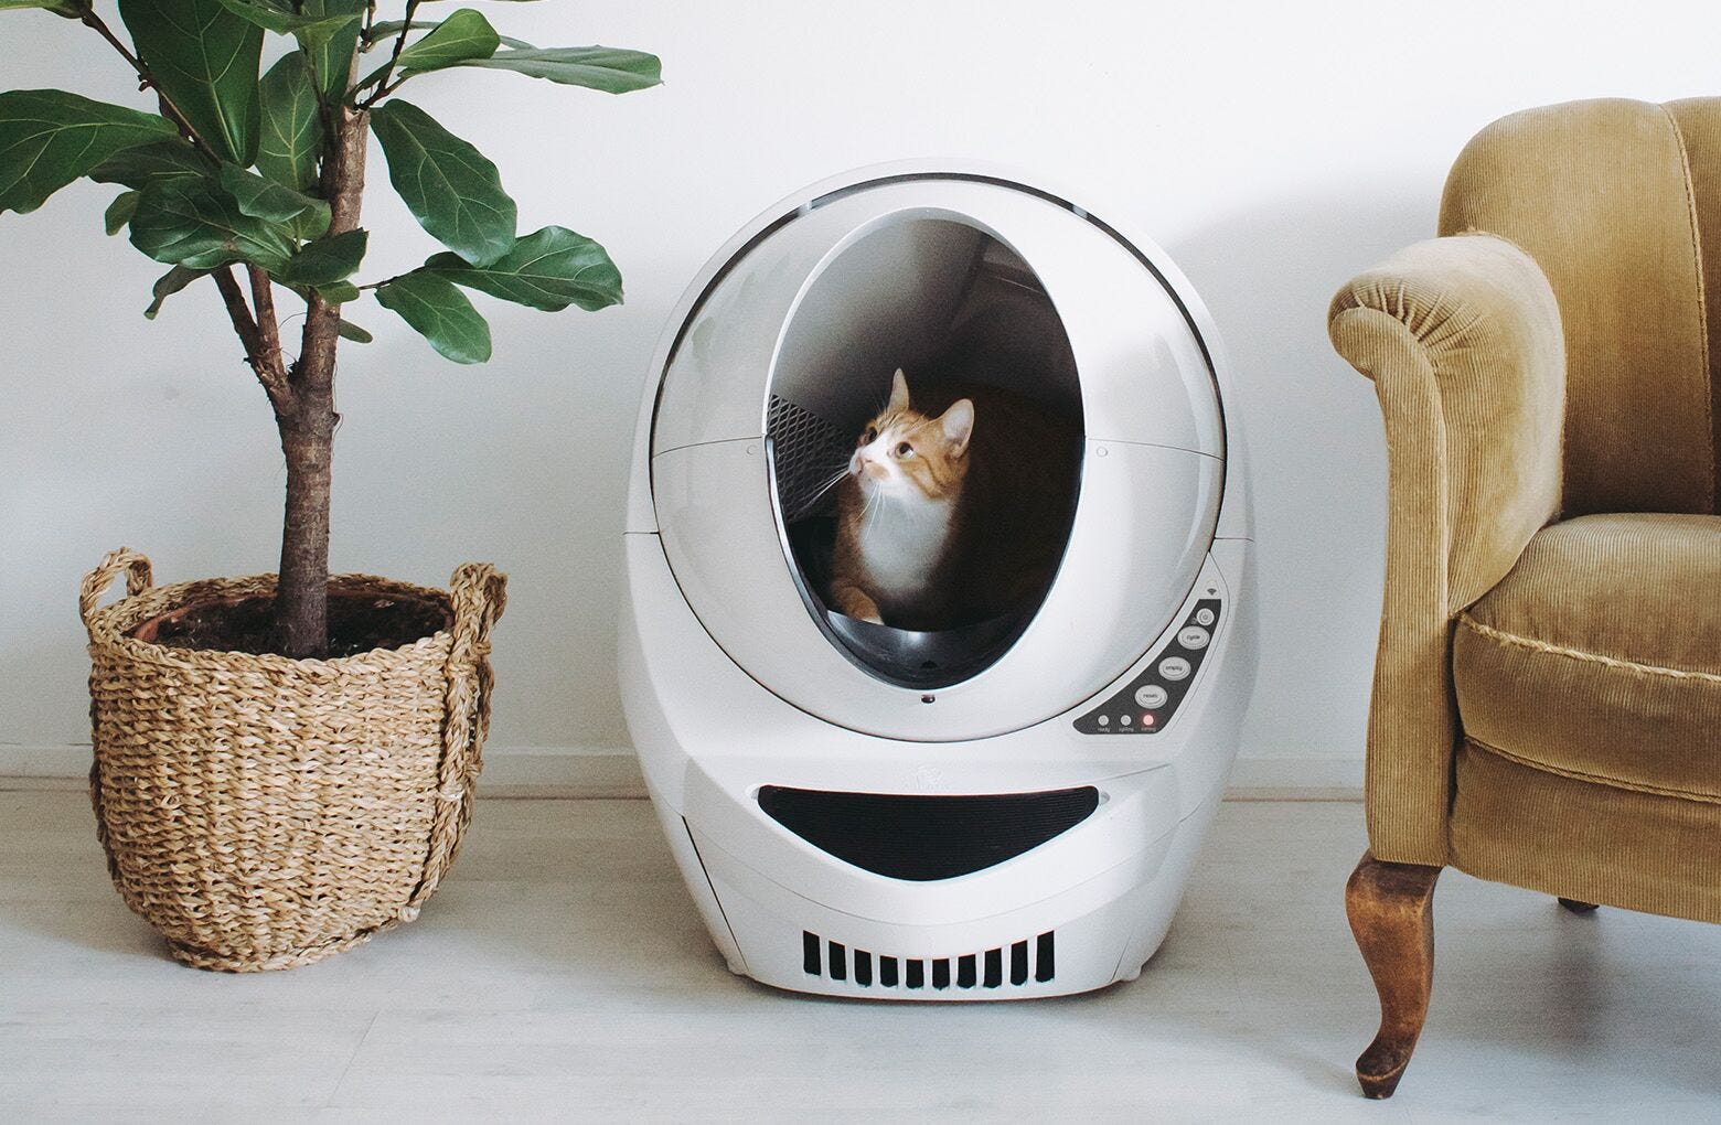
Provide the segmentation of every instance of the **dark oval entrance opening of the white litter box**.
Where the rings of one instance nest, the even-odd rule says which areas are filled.
[[[862,485],[850,459],[888,413],[898,368],[921,418],[967,397],[971,437],[953,454],[943,427],[922,428],[924,452],[909,454],[917,466],[876,470],[886,483]],[[785,554],[838,650],[907,688],[960,683],[1010,650],[1064,559],[1083,458],[1069,335],[1021,256],[974,225],[924,215],[850,243],[783,334],[766,432]],[[838,611],[840,575],[883,623]]]

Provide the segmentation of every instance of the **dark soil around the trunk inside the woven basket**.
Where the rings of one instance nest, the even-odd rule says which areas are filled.
[[[133,636],[169,649],[212,652],[277,652],[274,599],[200,602],[145,621]],[[377,597],[373,593],[329,593],[329,657],[356,655],[372,649],[399,649],[449,628],[447,611],[435,602]]]

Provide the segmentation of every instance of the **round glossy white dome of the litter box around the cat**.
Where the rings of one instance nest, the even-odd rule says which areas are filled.
[[[964,172],[809,194],[719,255],[649,421],[654,521],[704,630],[795,707],[928,741],[1031,726],[1127,671],[1187,599],[1225,487],[1208,344],[1165,268],[1081,208]],[[909,631],[830,604],[824,485],[897,368],[1081,433],[1057,575],[1002,616]]]

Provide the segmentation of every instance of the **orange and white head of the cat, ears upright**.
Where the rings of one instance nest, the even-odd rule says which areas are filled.
[[[871,499],[950,499],[967,473],[974,403],[959,399],[938,418],[909,406],[909,380],[891,378],[890,404],[867,423],[848,458],[848,471]]]

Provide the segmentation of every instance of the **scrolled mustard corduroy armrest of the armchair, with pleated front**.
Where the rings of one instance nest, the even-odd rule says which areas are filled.
[[[1559,304],[1511,243],[1416,243],[1339,289],[1332,346],[1375,382],[1387,433],[1387,575],[1368,712],[1368,836],[1444,864],[1453,619],[1559,509],[1566,396]]]

